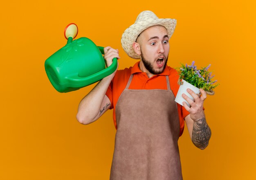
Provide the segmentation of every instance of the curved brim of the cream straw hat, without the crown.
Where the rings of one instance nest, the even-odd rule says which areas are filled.
[[[129,57],[131,57],[133,59],[140,59],[140,56],[137,55],[135,50],[132,48],[132,44],[133,44],[133,42],[136,41],[138,35],[142,31],[144,31],[145,29],[148,29],[151,26],[161,25],[166,28],[168,37],[170,39],[175,30],[176,23],[177,23],[176,19],[164,18],[164,19],[157,19],[157,20],[132,24],[130,27],[128,27],[124,31],[122,38],[121,38],[121,45]]]

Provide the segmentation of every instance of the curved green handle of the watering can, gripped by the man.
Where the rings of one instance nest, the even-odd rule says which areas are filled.
[[[104,55],[104,48],[101,46],[98,46],[99,50],[101,51],[101,54]],[[101,79],[103,79],[104,77],[107,77],[108,75],[111,75],[113,72],[115,72],[115,70],[117,69],[117,58],[113,59],[113,63],[108,66],[107,68],[100,70],[99,72],[97,72],[95,74],[86,76],[86,77],[79,77],[79,76],[71,76],[71,77],[67,77],[67,79],[70,80],[70,82],[72,83],[72,85],[74,86],[74,81],[75,86],[76,87],[80,87],[83,88],[85,86],[89,86],[92,83],[95,83],[97,81],[100,81]]]

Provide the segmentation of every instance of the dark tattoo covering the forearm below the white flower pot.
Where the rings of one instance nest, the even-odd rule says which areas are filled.
[[[211,129],[207,125],[205,117],[203,117],[198,121],[195,121],[193,124],[193,132],[192,132],[193,144],[200,149],[204,149],[205,147],[207,147],[210,138],[211,138]]]

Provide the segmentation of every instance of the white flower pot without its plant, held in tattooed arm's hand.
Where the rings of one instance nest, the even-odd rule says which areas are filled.
[[[191,89],[193,92],[195,92],[195,94],[199,94],[200,90],[199,88],[193,86],[192,84],[188,83],[187,81],[182,79],[182,82],[180,83],[180,88],[178,90],[178,93],[176,95],[175,98],[175,102],[179,103],[180,105],[183,106],[183,102],[185,101],[186,104],[191,107],[191,105],[182,97],[182,94],[186,94],[190,99],[192,99],[192,101],[194,101],[195,99],[189,94],[189,92],[187,92],[187,89]]]

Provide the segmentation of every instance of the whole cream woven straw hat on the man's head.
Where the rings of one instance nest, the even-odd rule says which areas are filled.
[[[121,45],[128,56],[133,59],[140,59],[140,56],[132,48],[132,43],[136,41],[138,35],[150,26],[161,25],[167,29],[170,39],[174,32],[176,22],[177,20],[175,19],[159,19],[152,11],[142,11],[139,13],[135,23],[124,31],[121,38]]]

